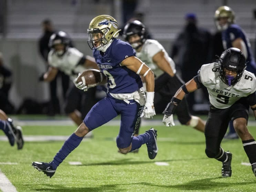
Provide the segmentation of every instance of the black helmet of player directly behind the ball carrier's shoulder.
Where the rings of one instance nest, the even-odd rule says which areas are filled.
[[[139,41],[134,42],[132,44],[132,47],[134,49],[137,49],[137,48],[141,47],[144,44],[144,42],[146,41],[147,36],[148,36],[145,25],[142,22],[138,21],[138,20],[134,20],[132,22],[129,22],[124,26],[123,38],[126,41],[128,41],[129,36],[134,35],[134,34],[138,34],[141,37],[141,39]]]

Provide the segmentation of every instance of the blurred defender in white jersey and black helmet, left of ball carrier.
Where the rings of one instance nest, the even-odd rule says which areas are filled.
[[[52,34],[49,46],[52,48],[48,54],[48,71],[41,77],[42,81],[52,81],[58,70],[69,75],[74,82],[79,73],[88,68],[99,69],[95,60],[90,56],[84,56],[78,49],[69,47],[70,38],[63,31]],[[83,92],[73,85],[69,88],[65,99],[65,113],[80,125],[83,118],[97,102],[95,99],[96,87]]]

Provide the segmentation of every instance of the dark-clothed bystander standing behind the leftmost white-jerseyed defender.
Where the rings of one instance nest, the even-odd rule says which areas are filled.
[[[48,64],[47,58],[48,58],[48,53],[50,52],[50,47],[48,44],[49,44],[50,36],[55,31],[53,29],[52,22],[49,19],[45,19],[42,22],[42,27],[43,27],[44,33],[43,33],[43,36],[39,39],[39,52],[43,60],[47,64],[47,68],[48,68],[49,64]],[[66,95],[66,92],[69,88],[69,76],[59,71],[56,77],[54,78],[54,80],[50,82],[49,115],[55,115],[55,113],[60,113],[60,104],[59,104],[59,99],[57,97],[57,77],[58,76],[61,77],[63,96]]]

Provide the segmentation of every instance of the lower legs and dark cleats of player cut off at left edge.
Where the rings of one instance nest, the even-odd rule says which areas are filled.
[[[3,130],[4,134],[8,137],[11,146],[17,143],[17,148],[22,149],[24,140],[22,136],[22,129],[20,126],[14,126],[13,120],[8,118],[6,113],[0,109],[0,129]]]

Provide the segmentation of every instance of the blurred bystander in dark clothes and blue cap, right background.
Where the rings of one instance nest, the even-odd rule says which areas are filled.
[[[171,58],[177,57],[176,63],[181,68],[182,79],[185,82],[197,75],[198,69],[211,60],[211,33],[197,26],[197,18],[194,13],[185,15],[185,27],[178,34],[171,48]],[[203,89],[204,97],[208,100],[208,93]],[[194,93],[187,95],[189,109],[193,112],[195,103]]]

